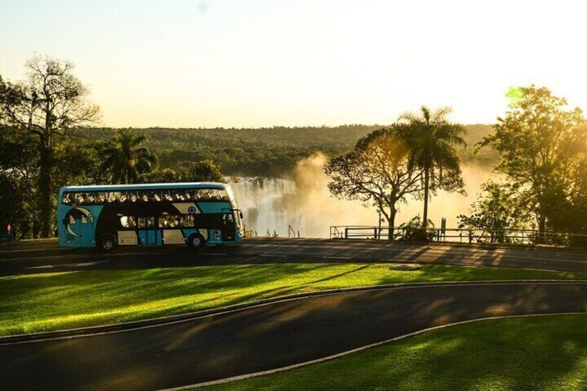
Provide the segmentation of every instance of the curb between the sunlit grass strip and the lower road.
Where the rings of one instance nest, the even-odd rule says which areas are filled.
[[[377,290],[392,290],[392,289],[409,289],[409,288],[424,288],[424,287],[450,287],[459,285],[503,285],[503,284],[587,284],[586,280],[483,280],[483,281],[444,281],[444,282],[410,282],[399,284],[384,284],[371,285],[367,287],[354,288],[340,288],[340,289],[326,289],[323,291],[311,291],[304,293],[294,293],[291,295],[282,295],[275,298],[267,298],[256,300],[254,302],[234,304],[225,307],[218,307],[214,309],[206,309],[202,311],[195,311],[190,313],[183,313],[174,316],[163,316],[161,318],[152,318],[145,320],[135,320],[132,322],[115,323],[112,325],[100,325],[92,327],[80,327],[77,329],[65,329],[57,331],[45,331],[33,334],[17,334],[15,336],[0,337],[0,345],[12,345],[17,343],[34,343],[42,342],[44,340],[80,338],[86,336],[97,336],[101,334],[110,334],[123,331],[132,331],[134,329],[143,329],[147,327],[158,327],[169,325],[177,322],[188,322],[208,316],[220,315],[222,313],[231,313],[235,311],[243,311],[245,309],[262,307],[276,302],[285,302],[289,300],[302,300],[305,298],[314,298],[325,295],[336,295],[344,293],[354,293],[360,291],[377,291]]]

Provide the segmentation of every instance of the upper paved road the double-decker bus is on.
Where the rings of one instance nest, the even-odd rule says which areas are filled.
[[[505,266],[587,273],[587,253],[545,248],[500,248],[457,244],[401,244],[363,240],[251,239],[238,246],[192,251],[168,248],[59,248],[55,242],[0,248],[0,275],[75,269],[145,269],[275,262],[419,262]]]

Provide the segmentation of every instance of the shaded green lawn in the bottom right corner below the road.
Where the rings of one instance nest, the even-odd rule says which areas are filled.
[[[210,389],[586,390],[586,329],[587,315],[482,320]]]

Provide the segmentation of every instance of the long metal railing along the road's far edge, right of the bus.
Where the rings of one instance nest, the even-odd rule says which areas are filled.
[[[466,228],[428,228],[426,235],[413,227],[331,226],[331,239],[381,239],[400,242],[428,239],[433,242],[487,244],[548,244],[552,246],[587,246],[587,234],[538,230],[482,230]]]

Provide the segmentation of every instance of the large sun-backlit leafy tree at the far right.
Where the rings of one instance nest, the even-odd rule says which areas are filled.
[[[586,121],[579,108],[568,109],[564,98],[544,87],[513,89],[509,96],[505,117],[498,118],[494,133],[479,147],[500,153],[495,170],[507,176],[543,233],[577,179],[573,166],[585,150]]]

